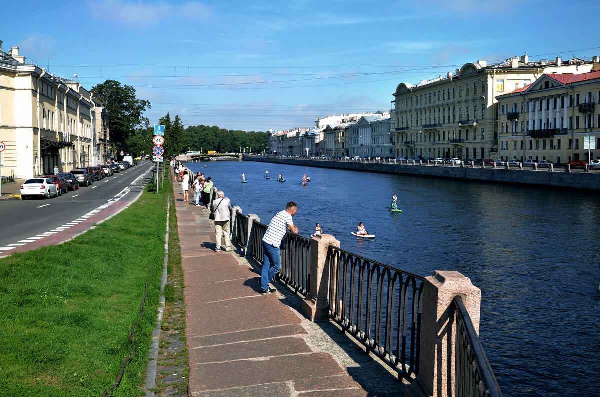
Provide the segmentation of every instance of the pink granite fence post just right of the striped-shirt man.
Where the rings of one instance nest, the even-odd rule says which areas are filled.
[[[329,245],[340,246],[331,234],[317,234],[310,242],[310,293],[302,300],[302,312],[311,321],[328,318],[329,308]]]

